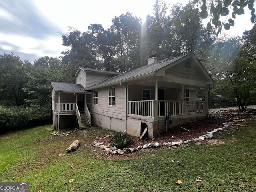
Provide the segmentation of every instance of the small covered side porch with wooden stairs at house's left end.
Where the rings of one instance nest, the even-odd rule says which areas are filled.
[[[51,82],[51,89],[52,127],[55,130],[91,126],[91,92],[81,90],[77,84],[59,82]]]

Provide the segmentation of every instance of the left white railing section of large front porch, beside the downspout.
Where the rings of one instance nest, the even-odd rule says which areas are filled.
[[[154,100],[128,101],[128,114],[154,116]]]

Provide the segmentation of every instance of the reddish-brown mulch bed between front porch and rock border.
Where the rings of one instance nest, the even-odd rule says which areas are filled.
[[[176,142],[179,139],[183,141],[190,140],[194,137],[202,136],[208,131],[222,128],[224,122],[234,121],[236,124],[240,124],[246,120],[252,120],[254,117],[256,117],[256,109],[248,109],[248,111],[243,113],[238,110],[212,109],[210,110],[210,118],[182,125],[183,128],[190,130],[190,132],[180,127],[175,127],[169,129],[168,133],[159,134],[152,139],[139,140],[137,137],[132,137],[134,144],[129,147],[133,148],[148,144],[149,142],[158,142],[162,144],[163,142]],[[100,142],[110,144],[110,138],[101,138]]]

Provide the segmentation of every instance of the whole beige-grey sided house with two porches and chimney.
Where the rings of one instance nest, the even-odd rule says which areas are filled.
[[[214,80],[193,53],[157,61],[120,74],[79,67],[76,84],[51,82],[52,126],[94,124],[150,138],[168,128],[208,117],[208,91]],[[205,101],[197,101],[204,89]],[[172,125],[166,128],[166,115]]]

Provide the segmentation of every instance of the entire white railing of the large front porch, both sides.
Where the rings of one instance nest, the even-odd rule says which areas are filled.
[[[154,116],[155,101],[128,101],[128,114]],[[204,101],[158,101],[158,116],[205,113]]]

